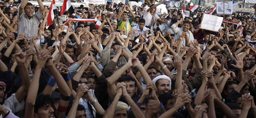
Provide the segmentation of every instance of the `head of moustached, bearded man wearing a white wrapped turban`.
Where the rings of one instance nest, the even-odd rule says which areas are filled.
[[[159,75],[152,80],[156,84],[157,97],[163,93],[169,93],[171,89],[171,78],[166,75]]]

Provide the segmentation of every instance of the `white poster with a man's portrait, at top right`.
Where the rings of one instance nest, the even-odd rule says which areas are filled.
[[[233,1],[221,0],[216,1],[217,13],[220,15],[231,15],[233,12]]]

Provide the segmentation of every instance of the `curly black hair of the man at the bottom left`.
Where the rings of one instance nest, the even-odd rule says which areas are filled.
[[[34,106],[34,113],[38,112],[40,107],[43,107],[46,104],[53,105],[54,99],[49,94],[38,94],[36,96],[36,102]]]

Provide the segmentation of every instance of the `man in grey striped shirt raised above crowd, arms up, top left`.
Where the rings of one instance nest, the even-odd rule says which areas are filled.
[[[29,40],[33,36],[37,36],[37,28],[43,16],[44,4],[38,0],[39,10],[34,14],[35,8],[28,0],[23,0],[17,15],[18,29],[17,33],[25,33],[26,39]],[[27,47],[26,47],[27,48]]]

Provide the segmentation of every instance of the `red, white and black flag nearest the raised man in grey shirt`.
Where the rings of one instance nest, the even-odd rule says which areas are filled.
[[[49,11],[50,12],[47,17],[46,29],[52,32],[52,29],[55,29],[56,27],[54,15],[57,15],[57,7],[55,4],[55,0],[52,0],[52,4],[49,8]]]

